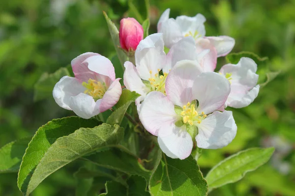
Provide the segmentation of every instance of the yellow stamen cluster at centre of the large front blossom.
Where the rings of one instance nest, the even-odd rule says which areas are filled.
[[[200,115],[196,111],[195,104],[191,104],[190,102],[187,102],[186,105],[183,105],[182,111],[180,113],[180,116],[182,117],[182,121],[184,124],[193,125],[194,122],[201,123],[202,120],[204,120],[207,115],[202,112]]]

